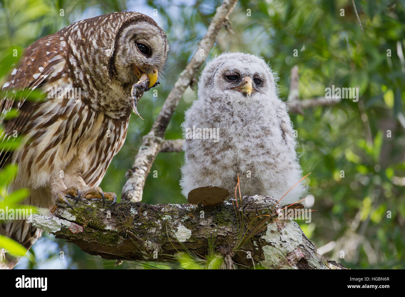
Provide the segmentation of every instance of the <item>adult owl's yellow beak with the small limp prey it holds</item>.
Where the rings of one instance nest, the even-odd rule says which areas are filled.
[[[132,111],[138,115],[141,120],[143,120],[138,112],[137,103],[139,99],[141,99],[144,92],[149,91],[150,88],[153,88],[159,84],[158,70],[154,67],[151,71],[143,73],[134,65],[134,73],[139,77],[139,81],[132,85],[131,89]]]

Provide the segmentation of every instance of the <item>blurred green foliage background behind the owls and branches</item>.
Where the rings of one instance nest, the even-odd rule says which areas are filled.
[[[120,196],[124,174],[131,167],[142,135],[149,132],[220,1],[0,3],[3,56],[10,49],[26,47],[73,21],[112,11],[146,13],[166,32],[171,51],[166,77],[157,88],[158,97],[148,92],[139,102],[145,121],[131,118],[126,143],[101,184],[104,190]],[[359,86],[359,102],[343,99],[333,107],[314,107],[302,115],[291,114],[298,131],[297,152],[303,171],[312,172],[307,178],[315,197],[312,209],[318,210],[312,213],[311,223],[299,223],[318,248],[331,244],[333,248],[324,254],[326,257],[349,268],[405,268],[405,1],[357,0],[356,7],[364,34],[352,3],[347,0],[241,0],[230,16],[231,27],[220,32],[210,56],[242,51],[264,57],[278,74],[282,98],[288,97],[294,65],[299,67],[301,99],[324,96],[325,88],[332,85]],[[60,16],[60,9],[64,9],[64,17]],[[157,16],[153,9],[157,9]],[[251,16],[247,16],[248,10]],[[295,49],[298,57],[293,55]],[[3,69],[0,67],[1,73]],[[169,124],[167,139],[182,137],[184,111],[195,98],[196,91],[188,88]],[[151,174],[147,178],[144,202],[186,202],[179,187],[183,157],[183,153],[158,155],[151,169],[158,172],[158,177]],[[50,240],[54,246],[51,251]],[[100,257],[84,254],[63,240],[47,236],[34,250],[38,263],[30,267],[49,268],[49,263],[60,268],[113,267]],[[58,251],[64,251],[63,264]],[[25,265],[28,264],[23,262],[19,267]]]

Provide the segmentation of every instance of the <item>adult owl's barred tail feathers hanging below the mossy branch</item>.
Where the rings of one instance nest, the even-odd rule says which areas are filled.
[[[42,230],[33,228],[26,220],[8,221],[0,224],[0,234],[7,236],[24,246],[27,251],[40,238]],[[0,249],[0,269],[12,269],[21,257],[11,255],[5,249]]]

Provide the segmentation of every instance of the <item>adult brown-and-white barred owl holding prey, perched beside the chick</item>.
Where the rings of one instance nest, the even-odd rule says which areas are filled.
[[[28,187],[27,202],[48,209],[72,196],[115,202],[116,195],[98,185],[125,141],[132,85],[142,74],[149,87],[155,85],[168,48],[162,29],[136,12],[78,21],[28,46],[0,99],[5,128],[0,141],[23,137],[18,150],[0,151],[0,168],[18,164],[10,191]],[[20,90],[39,90],[43,96],[27,100]],[[11,108],[19,115],[4,120]],[[22,220],[0,226],[0,234],[27,249],[40,232]],[[18,259],[4,252],[0,267],[13,268]]]

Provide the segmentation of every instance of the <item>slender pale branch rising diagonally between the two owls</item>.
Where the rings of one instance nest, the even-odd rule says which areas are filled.
[[[151,169],[156,155],[160,151],[162,142],[164,141],[164,133],[168,123],[179,103],[187,86],[190,85],[192,79],[196,75],[200,66],[206,60],[208,53],[211,51],[217,34],[228,20],[229,14],[232,12],[237,0],[224,0],[208,27],[207,34],[199,42],[198,48],[190,63],[181,72],[174,88],[169,93],[166,101],[163,104],[162,110],[158,115],[151,131],[143,137],[143,143],[139,148],[138,154],[135,156],[132,169],[128,170],[125,177],[127,179],[122,188],[122,201],[141,201],[143,187],[145,186],[146,177]]]

